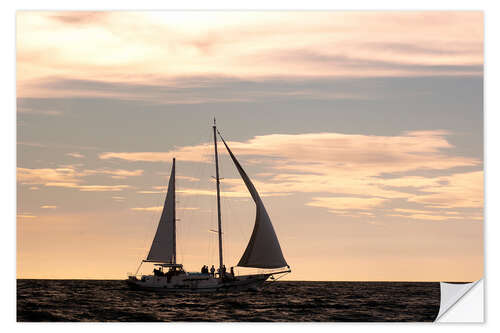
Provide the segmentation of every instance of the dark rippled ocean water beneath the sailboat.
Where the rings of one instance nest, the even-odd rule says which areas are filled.
[[[156,293],[119,280],[17,280],[19,322],[431,322],[439,282],[266,282],[259,291]]]

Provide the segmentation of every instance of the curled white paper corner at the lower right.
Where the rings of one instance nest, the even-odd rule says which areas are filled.
[[[471,283],[440,282],[439,284],[441,301],[435,322],[482,323],[484,321],[483,279]]]

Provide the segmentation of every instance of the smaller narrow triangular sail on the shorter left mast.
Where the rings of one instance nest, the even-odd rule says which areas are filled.
[[[175,158],[158,229],[146,261],[175,264]]]

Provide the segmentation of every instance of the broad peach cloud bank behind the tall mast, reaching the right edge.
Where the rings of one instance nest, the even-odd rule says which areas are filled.
[[[434,215],[425,207],[480,208],[482,171],[457,172],[457,168],[481,168],[476,158],[454,155],[442,130],[411,131],[395,136],[341,133],[272,134],[245,142],[229,142],[232,151],[247,167],[257,160],[266,172],[252,177],[262,196],[294,193],[315,194],[307,203],[331,212],[359,215],[360,211],[392,206],[392,200],[422,206],[414,218]],[[221,152],[222,153],[222,152]],[[181,147],[169,152],[105,153],[102,159],[127,161],[179,160],[211,162],[207,144]],[[439,171],[439,176],[407,175],[416,170]],[[443,176],[442,173],[445,173]],[[392,174],[392,178],[382,175]],[[264,177],[263,180],[261,177]],[[240,179],[224,179],[228,197],[248,197]],[[155,187],[164,190],[164,187]],[[183,195],[215,195],[213,190],[184,189]],[[319,195],[318,195],[319,194]],[[368,196],[368,197],[367,197]],[[449,219],[451,217],[447,217]],[[435,218],[437,219],[437,218]]]

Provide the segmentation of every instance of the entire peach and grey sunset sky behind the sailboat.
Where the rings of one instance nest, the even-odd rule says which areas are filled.
[[[481,12],[16,17],[17,277],[125,278],[171,159],[178,259],[216,264],[213,117],[290,280],[483,276]],[[226,266],[255,208],[220,147]]]

